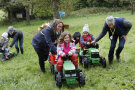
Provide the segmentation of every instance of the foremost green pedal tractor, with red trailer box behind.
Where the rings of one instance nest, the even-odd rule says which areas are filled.
[[[63,64],[63,70],[61,74],[57,72],[57,60],[56,55],[49,56],[51,73],[54,74],[56,85],[60,88],[62,87],[63,82],[66,82],[68,85],[73,85],[79,83],[79,85],[85,85],[85,75],[80,69],[75,69],[74,64],[71,62],[70,57],[66,55]]]

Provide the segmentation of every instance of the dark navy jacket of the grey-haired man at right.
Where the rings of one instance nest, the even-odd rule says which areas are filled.
[[[115,19],[115,32],[114,36],[122,36],[122,35],[127,35],[129,30],[132,27],[132,23],[129,22],[128,20],[125,20],[124,18],[121,17],[116,17]],[[99,41],[101,38],[103,38],[106,33],[109,33],[109,37],[112,36],[112,32],[110,31],[110,28],[108,27],[107,23],[105,22],[103,29],[99,36],[95,39],[95,41]]]

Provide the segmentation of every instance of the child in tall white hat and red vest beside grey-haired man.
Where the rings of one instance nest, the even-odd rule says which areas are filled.
[[[99,45],[93,45],[91,42],[95,38],[93,37],[92,34],[89,33],[89,25],[85,24],[83,27],[83,35],[81,36],[81,48],[82,49],[88,49],[88,48],[99,48]]]

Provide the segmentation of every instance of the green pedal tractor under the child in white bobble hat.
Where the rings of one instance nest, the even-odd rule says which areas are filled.
[[[79,62],[83,64],[84,68],[88,68],[89,65],[99,63],[101,63],[104,68],[106,67],[105,58],[99,55],[99,50],[96,48],[80,50]]]

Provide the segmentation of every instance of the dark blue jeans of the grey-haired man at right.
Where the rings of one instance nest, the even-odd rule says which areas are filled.
[[[119,38],[119,46],[116,50],[116,56],[120,56],[121,51],[124,48],[124,44],[125,44],[125,39],[121,36],[113,36],[113,39],[111,40],[111,46],[110,46],[110,50],[109,50],[109,54],[108,54],[108,59],[111,62],[113,60],[113,55],[114,55],[114,49],[116,47],[116,43],[117,43],[117,39]]]

